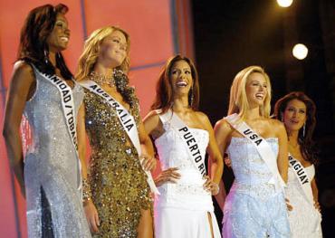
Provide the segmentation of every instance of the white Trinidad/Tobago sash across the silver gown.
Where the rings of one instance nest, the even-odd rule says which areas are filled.
[[[51,82],[60,91],[62,98],[62,112],[65,117],[66,128],[70,134],[70,137],[72,138],[72,145],[78,158],[78,164],[80,169],[80,174],[78,176],[79,181],[81,181],[81,160],[78,154],[78,140],[77,140],[77,129],[76,129],[77,123],[76,123],[72,88],[55,74],[49,76],[41,71],[38,71],[35,67],[34,70],[37,71],[39,74],[41,74],[43,76],[43,79]],[[78,189],[81,190],[81,183]]]

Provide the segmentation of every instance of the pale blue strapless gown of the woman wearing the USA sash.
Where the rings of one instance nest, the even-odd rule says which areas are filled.
[[[274,155],[278,138],[267,138]],[[270,169],[247,138],[232,138],[227,148],[235,183],[225,199],[223,237],[290,237],[283,191],[269,181]]]

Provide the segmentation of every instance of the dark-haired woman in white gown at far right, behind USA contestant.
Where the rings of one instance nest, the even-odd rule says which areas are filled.
[[[292,205],[292,211],[289,212],[292,238],[322,237],[313,165],[316,157],[311,139],[316,124],[315,110],[314,102],[299,91],[278,100],[274,109],[277,119],[284,123],[289,138],[291,166],[285,192]]]

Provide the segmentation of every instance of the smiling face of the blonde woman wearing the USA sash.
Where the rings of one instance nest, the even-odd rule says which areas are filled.
[[[251,108],[262,106],[267,96],[267,82],[260,72],[253,72],[249,75],[245,93]]]

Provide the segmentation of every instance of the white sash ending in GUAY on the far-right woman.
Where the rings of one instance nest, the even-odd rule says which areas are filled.
[[[297,177],[299,184],[302,186],[302,191],[305,195],[305,198],[309,203],[311,203],[311,205],[313,205],[314,201],[312,199],[313,195],[311,193],[311,181],[306,173],[305,168],[302,166],[302,163],[298,159],[292,157],[291,154],[289,154],[289,165],[292,167],[294,175]]]

